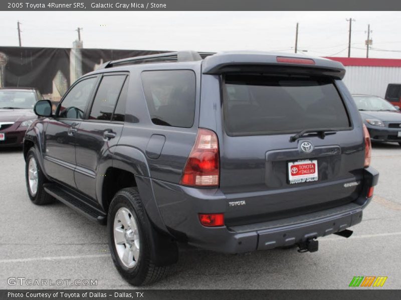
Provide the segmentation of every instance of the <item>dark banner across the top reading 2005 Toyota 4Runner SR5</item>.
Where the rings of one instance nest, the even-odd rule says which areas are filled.
[[[399,0],[4,0],[0,10],[401,10]]]

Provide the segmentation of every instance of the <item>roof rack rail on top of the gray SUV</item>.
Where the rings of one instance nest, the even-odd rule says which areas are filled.
[[[134,56],[105,62],[100,68],[113,67],[119,64],[140,64],[152,62],[181,62],[202,60],[213,52],[196,52],[192,50],[165,52],[151,55]]]

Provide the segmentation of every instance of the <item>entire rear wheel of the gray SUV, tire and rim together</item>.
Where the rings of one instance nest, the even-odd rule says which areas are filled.
[[[116,193],[107,218],[109,247],[113,262],[125,280],[133,285],[147,285],[166,273],[166,266],[156,266],[150,253],[153,244],[150,221],[134,187]]]

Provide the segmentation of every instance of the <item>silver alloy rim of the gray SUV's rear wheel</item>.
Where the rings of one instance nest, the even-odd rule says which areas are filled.
[[[124,266],[132,268],[139,258],[139,230],[135,216],[126,207],[114,216],[114,245]]]

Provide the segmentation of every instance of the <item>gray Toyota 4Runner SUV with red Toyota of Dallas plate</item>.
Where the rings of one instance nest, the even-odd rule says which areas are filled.
[[[177,241],[239,253],[348,237],[378,173],[341,63],[267,52],[110,61],[51,103],[24,143],[28,194],[106,223],[135,285]],[[51,228],[49,229],[51,230]]]

